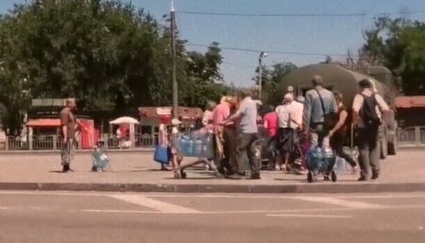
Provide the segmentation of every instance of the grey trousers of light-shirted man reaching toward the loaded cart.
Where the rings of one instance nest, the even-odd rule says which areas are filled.
[[[259,163],[257,159],[255,159],[255,155],[251,149],[252,143],[257,140],[258,136],[256,133],[246,134],[241,133],[238,136],[238,143],[236,149],[236,159],[238,163],[237,172],[243,173],[243,167],[246,161],[246,157],[248,156],[248,161],[250,164],[250,170],[252,176],[259,175]]]

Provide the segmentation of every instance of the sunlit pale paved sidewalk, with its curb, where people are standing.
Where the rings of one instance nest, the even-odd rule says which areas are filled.
[[[0,189],[170,191],[244,193],[356,193],[374,191],[425,191],[425,151],[399,150],[382,163],[377,181],[357,182],[358,175],[339,174],[337,182],[307,183],[306,175],[263,171],[262,180],[216,179],[195,168],[188,179],[175,179],[173,173],[159,171],[147,152],[110,153],[111,170],[90,171],[90,155],[77,154],[74,172],[61,173],[55,154],[0,154]]]

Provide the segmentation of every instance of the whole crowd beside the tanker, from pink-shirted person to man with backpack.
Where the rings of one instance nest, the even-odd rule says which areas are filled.
[[[375,180],[379,175],[379,127],[383,113],[389,111],[383,97],[378,95],[371,79],[359,81],[351,113],[344,104],[342,93],[332,93],[323,87],[323,79],[312,78],[312,88],[304,96],[295,97],[294,91],[284,95],[283,101],[263,118],[258,116],[258,102],[248,91],[237,97],[223,97],[220,104],[210,102],[202,124],[214,130],[223,142],[223,157],[216,160],[218,172],[232,177],[245,176],[248,157],[252,179],[260,178],[260,166],[252,152],[252,143],[258,139],[259,120],[268,134],[271,152],[269,168],[275,170],[307,171],[305,160],[296,164],[298,157],[311,146],[329,146],[335,155],[342,157],[358,171],[355,159],[344,152],[346,132],[351,123],[355,128],[355,141],[360,155],[359,180]],[[291,166],[296,165],[296,166]]]

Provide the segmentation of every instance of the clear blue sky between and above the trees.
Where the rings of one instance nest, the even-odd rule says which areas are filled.
[[[127,1],[127,0],[122,0]],[[24,0],[0,0],[0,13]],[[133,0],[162,20],[169,13],[170,0]],[[221,47],[261,51],[329,54],[335,61],[345,61],[348,50],[357,54],[364,42],[362,30],[374,26],[376,13],[425,10],[425,0],[175,0],[180,38],[195,45],[216,41]],[[338,17],[240,17],[189,15],[178,11],[256,14],[365,13],[364,16]],[[425,21],[425,13],[403,15]],[[206,47],[187,49],[205,52]],[[225,81],[236,86],[252,86],[259,52],[222,51],[220,69]],[[298,66],[324,61],[325,56],[270,53],[265,65],[292,62]]]

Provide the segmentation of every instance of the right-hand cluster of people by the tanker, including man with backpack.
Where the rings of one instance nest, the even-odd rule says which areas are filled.
[[[344,152],[348,124],[353,123],[356,144],[360,151],[359,180],[375,180],[379,175],[380,143],[379,127],[383,123],[383,112],[389,107],[378,95],[371,79],[359,81],[359,93],[355,95],[352,117],[344,105],[342,93],[332,93],[323,88],[323,79],[312,78],[314,88],[294,100],[294,93],[284,95],[282,104],[264,116],[264,127],[268,131],[269,148],[275,148],[271,163],[276,170],[290,170],[296,157],[307,153],[310,146],[330,146],[335,155],[345,159],[353,168],[357,164],[353,157]],[[272,149],[273,150],[273,149]],[[305,160],[301,160],[305,162]],[[282,164],[284,163],[284,167]],[[305,163],[296,166],[298,173],[307,169]]]

